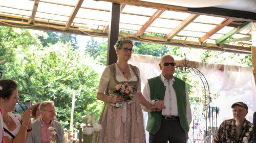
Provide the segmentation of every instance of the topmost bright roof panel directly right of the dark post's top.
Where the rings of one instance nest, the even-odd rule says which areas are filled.
[[[141,15],[147,15],[147,16],[152,16],[156,11],[157,11],[156,9],[129,6],[129,5],[126,5],[122,10],[122,12],[124,13],[141,14]]]

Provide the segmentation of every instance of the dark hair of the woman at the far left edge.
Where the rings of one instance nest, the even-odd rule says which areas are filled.
[[[11,79],[1,79],[0,80],[0,97],[3,99],[9,99],[12,92],[18,88],[15,81]]]

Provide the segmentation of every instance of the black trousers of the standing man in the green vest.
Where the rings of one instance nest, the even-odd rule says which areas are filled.
[[[150,133],[150,143],[186,143],[186,133],[179,120],[161,119],[161,127],[155,135]]]

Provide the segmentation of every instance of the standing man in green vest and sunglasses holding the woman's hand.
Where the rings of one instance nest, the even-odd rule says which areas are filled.
[[[158,111],[148,112],[146,130],[150,133],[150,143],[185,143],[188,139],[191,110],[185,82],[174,77],[175,61],[170,55],[160,60],[161,75],[148,79],[143,96]]]

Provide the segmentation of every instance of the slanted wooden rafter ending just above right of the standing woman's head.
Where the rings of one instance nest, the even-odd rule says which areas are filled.
[[[164,10],[157,10],[151,17],[146,21],[144,25],[139,29],[137,32],[137,36],[141,36],[145,31],[148,26],[150,26],[162,13]]]

